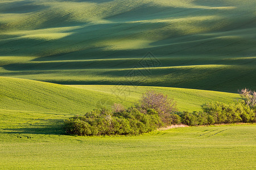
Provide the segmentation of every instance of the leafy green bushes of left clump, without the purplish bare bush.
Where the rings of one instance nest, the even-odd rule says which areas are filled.
[[[67,133],[74,135],[127,135],[147,133],[161,126],[162,121],[155,111],[147,114],[131,107],[121,112],[105,108],[94,109],[84,116],[65,120]]]

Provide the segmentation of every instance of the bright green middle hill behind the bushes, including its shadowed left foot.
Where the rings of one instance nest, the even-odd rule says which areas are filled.
[[[207,101],[231,102],[238,94],[170,87],[64,86],[0,76],[2,134],[63,134],[63,120],[114,103],[129,107],[147,90],[163,92],[177,101],[180,111],[198,111]],[[5,135],[4,135],[5,136]]]

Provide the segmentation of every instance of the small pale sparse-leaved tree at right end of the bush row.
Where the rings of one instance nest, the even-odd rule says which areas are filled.
[[[245,88],[240,91],[240,96],[242,97],[243,101],[245,101],[245,103],[249,105],[249,107],[252,107],[252,108],[256,107],[255,91],[251,91]]]

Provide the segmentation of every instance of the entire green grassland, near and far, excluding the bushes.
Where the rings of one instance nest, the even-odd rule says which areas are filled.
[[[155,90],[179,111],[256,90],[254,0],[0,0],[0,169],[255,169],[255,124],[77,137]]]

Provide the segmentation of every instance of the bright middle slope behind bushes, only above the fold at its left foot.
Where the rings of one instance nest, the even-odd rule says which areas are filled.
[[[0,109],[83,114],[97,107],[121,103],[128,107],[148,90],[177,100],[180,110],[199,110],[208,101],[232,102],[238,94],[170,87],[64,86],[18,78],[0,77]]]

